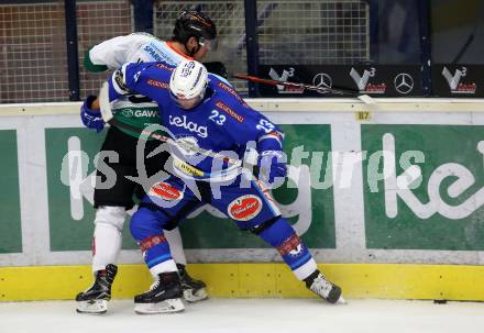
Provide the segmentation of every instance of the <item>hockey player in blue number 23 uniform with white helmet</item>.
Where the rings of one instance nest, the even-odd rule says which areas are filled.
[[[173,154],[176,176],[154,184],[131,219],[131,233],[145,263],[152,275],[160,276],[148,291],[135,297],[136,312],[184,309],[176,265],[163,229],[206,203],[275,247],[295,276],[315,293],[331,303],[343,300],[341,288],[318,270],[270,195],[274,181],[287,175],[284,134],[275,124],[195,60],[184,60],[176,68],[164,63],[125,64],[109,85],[110,100],[135,92],[156,101],[163,110],[162,124],[178,146]],[[251,143],[258,154],[258,177],[234,163],[243,158]],[[197,185],[198,196],[186,186],[188,180]]]

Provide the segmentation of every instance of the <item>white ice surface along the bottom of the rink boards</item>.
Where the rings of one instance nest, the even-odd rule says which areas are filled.
[[[185,312],[139,315],[131,300],[78,314],[74,301],[0,302],[0,333],[469,333],[484,332],[484,303],[317,299],[211,299]]]

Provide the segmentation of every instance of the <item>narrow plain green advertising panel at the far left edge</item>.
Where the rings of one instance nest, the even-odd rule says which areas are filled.
[[[16,131],[0,131],[0,253],[22,252]]]

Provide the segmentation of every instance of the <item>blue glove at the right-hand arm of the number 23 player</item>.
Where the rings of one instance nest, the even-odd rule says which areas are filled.
[[[257,158],[258,179],[270,188],[274,187],[276,178],[287,176],[286,156],[280,151],[262,152]]]

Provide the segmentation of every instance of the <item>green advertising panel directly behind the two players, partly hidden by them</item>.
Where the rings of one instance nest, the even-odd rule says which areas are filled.
[[[304,188],[297,188],[288,180],[284,186],[273,190],[276,201],[289,207],[290,213],[286,214],[293,223],[306,225],[304,241],[309,247],[334,248],[334,203],[332,188],[312,188],[314,181],[321,181],[327,170],[328,152],[331,151],[331,132],[329,125],[298,124],[283,125],[286,132],[285,149],[290,160],[294,148],[307,152],[297,168],[306,170],[308,181],[299,182]],[[95,211],[91,203],[79,188],[86,188],[86,181],[79,186],[76,178],[85,180],[95,171],[94,157],[99,152],[103,136],[85,129],[47,129],[45,131],[47,184],[48,184],[48,211],[51,231],[51,251],[86,251],[90,248]],[[84,153],[67,163],[67,153],[74,147]],[[324,154],[314,154],[324,152]],[[311,159],[317,157],[322,160],[318,173],[309,173]],[[80,162],[81,160],[81,162]],[[64,170],[63,170],[64,165]],[[66,171],[67,170],[67,171]],[[77,175],[77,176],[76,176]],[[80,175],[80,176],[79,176]],[[319,179],[311,179],[318,177]],[[79,179],[77,179],[79,180]],[[301,193],[307,193],[302,198]],[[80,199],[73,200],[73,196]],[[298,200],[299,199],[299,200]],[[297,204],[294,204],[297,203]],[[304,203],[299,207],[299,203]],[[74,207],[75,206],[75,207]],[[283,212],[284,213],[284,212]],[[127,224],[128,225],[128,222]],[[187,219],[182,223],[184,246],[186,248],[256,248],[266,247],[258,237],[242,232],[228,219],[220,218],[208,211]],[[138,248],[129,234],[129,227],[123,231],[123,248]]]

